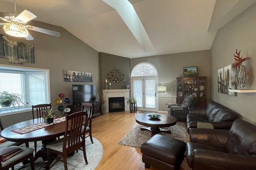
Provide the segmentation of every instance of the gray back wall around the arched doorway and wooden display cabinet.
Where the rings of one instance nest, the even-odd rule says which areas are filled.
[[[135,65],[142,62],[153,64],[158,71],[158,85],[169,83],[173,89],[173,100],[171,98],[170,88],[167,88],[167,94],[159,92],[158,110],[167,111],[165,103],[176,103],[176,77],[183,77],[183,67],[197,66],[198,76],[207,76],[207,94],[206,98],[210,98],[210,67],[211,53],[210,50],[193,51],[186,53],[176,53],[167,55],[156,55],[151,57],[142,57],[130,59],[130,70]]]

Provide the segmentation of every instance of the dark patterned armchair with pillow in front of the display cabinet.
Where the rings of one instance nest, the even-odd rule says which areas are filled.
[[[194,98],[191,96],[184,97],[181,105],[171,103],[168,105],[168,115],[173,116],[177,121],[185,121],[188,114],[188,108],[194,106]]]

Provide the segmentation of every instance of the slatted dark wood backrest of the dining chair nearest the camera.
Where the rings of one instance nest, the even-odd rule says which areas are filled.
[[[66,129],[63,140],[63,152],[70,153],[85,144],[87,112],[76,112],[66,115]],[[85,127],[83,127],[85,125]]]

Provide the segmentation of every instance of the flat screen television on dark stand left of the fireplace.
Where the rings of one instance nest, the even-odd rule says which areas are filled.
[[[81,105],[82,102],[95,101],[95,85],[72,85],[73,105]]]

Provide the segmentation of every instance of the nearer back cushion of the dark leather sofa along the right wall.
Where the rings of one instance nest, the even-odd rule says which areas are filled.
[[[238,118],[238,115],[234,111],[226,107],[223,107],[222,109],[220,109],[220,111],[218,111],[213,122],[234,121],[237,118]]]

